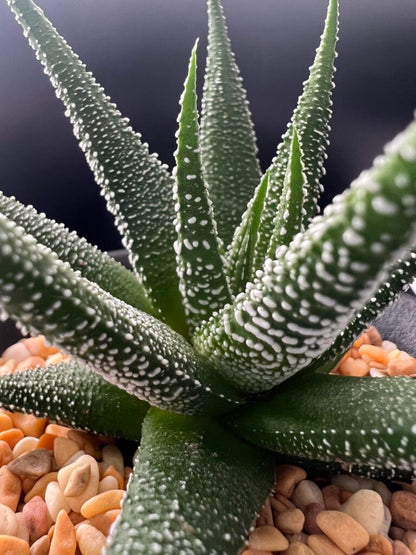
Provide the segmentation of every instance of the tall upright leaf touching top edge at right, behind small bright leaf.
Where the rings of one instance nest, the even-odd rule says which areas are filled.
[[[262,267],[274,232],[275,215],[287,172],[293,126],[296,126],[303,146],[304,171],[308,182],[304,197],[305,228],[317,213],[317,200],[322,190],[320,179],[324,173],[325,149],[328,144],[329,120],[332,115],[331,91],[334,86],[332,78],[337,35],[338,0],[330,0],[324,32],[310,68],[309,79],[304,83],[303,94],[299,97],[298,105],[269,168],[269,188],[259,227],[253,274]]]

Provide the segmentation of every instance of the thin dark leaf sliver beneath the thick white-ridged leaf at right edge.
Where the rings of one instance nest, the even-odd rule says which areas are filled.
[[[375,293],[369,302],[360,309],[345,329],[338,335],[331,347],[311,364],[311,369],[331,371],[335,362],[350,348],[353,341],[362,333],[387,306],[393,303],[400,293],[416,277],[416,251],[412,249],[403,260],[399,260],[389,272],[388,281]]]

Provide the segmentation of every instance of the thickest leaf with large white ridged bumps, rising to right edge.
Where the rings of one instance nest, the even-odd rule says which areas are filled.
[[[236,387],[270,389],[330,347],[414,245],[416,123],[195,337]]]

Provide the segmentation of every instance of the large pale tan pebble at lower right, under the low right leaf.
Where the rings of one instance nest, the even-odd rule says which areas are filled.
[[[382,528],[384,504],[376,491],[360,489],[341,505],[339,510],[359,522],[370,536],[378,534]]]

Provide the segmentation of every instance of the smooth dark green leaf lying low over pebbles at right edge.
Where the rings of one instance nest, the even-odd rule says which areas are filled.
[[[316,374],[230,417],[244,439],[279,453],[393,474],[416,470],[416,382]]]

